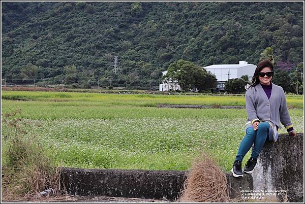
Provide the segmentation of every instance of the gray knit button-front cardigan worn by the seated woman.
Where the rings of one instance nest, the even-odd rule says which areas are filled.
[[[286,129],[292,127],[289,117],[285,92],[281,86],[272,83],[270,98],[268,99],[261,84],[251,87],[246,92],[246,110],[248,121],[252,125],[256,121],[272,122],[281,128],[280,121]]]

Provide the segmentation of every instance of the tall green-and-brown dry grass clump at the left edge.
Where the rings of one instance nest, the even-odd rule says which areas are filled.
[[[22,130],[22,119],[9,119],[20,110],[6,115],[3,120],[10,131],[4,135],[4,164],[2,166],[3,199],[39,199],[40,192],[52,188],[53,195],[66,194],[61,167],[55,167],[37,135]]]

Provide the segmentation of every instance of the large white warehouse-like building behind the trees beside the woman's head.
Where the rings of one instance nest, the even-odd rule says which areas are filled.
[[[247,61],[239,61],[239,64],[214,64],[203,67],[207,72],[210,71],[215,74],[217,78],[217,88],[224,90],[225,82],[228,79],[240,78],[243,75],[248,75],[249,80],[252,80],[252,76],[256,69],[256,65],[248,64]]]

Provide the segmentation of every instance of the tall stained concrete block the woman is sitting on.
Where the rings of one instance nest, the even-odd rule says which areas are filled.
[[[277,142],[267,142],[252,173],[254,190],[287,190],[290,202],[302,202],[303,154],[303,133],[296,138],[281,134]]]

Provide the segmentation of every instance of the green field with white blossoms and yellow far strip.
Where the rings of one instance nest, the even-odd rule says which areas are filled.
[[[28,101],[5,99],[18,97]],[[161,109],[158,104],[245,106],[245,97],[2,91],[2,113],[20,108],[18,117],[32,124],[38,140],[55,148],[50,156],[57,164],[186,170],[204,151],[231,169],[246,110]],[[289,109],[294,128],[302,132],[303,97],[287,96],[287,105],[294,108]],[[2,128],[3,137],[4,123]]]

